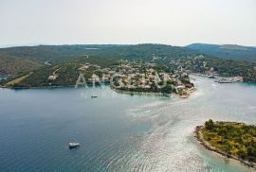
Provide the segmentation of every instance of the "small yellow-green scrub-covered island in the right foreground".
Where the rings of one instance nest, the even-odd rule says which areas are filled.
[[[207,149],[256,168],[255,126],[210,119],[196,127],[195,137]]]

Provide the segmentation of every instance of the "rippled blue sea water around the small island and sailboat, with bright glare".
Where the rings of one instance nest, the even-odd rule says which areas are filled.
[[[256,125],[256,87],[195,78],[187,99],[0,89],[0,171],[252,171],[205,150],[193,129],[209,118]],[[69,149],[73,139],[81,146]]]

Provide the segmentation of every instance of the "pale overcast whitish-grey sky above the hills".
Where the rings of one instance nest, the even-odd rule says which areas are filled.
[[[256,46],[255,0],[0,0],[0,46]]]

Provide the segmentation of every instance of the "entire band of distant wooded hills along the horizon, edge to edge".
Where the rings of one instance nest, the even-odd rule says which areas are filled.
[[[38,45],[0,48],[2,57],[16,57],[60,63],[78,56],[111,57],[127,60],[152,60],[155,57],[180,58],[205,54],[232,60],[256,61],[256,48],[226,44],[193,43],[186,47],[165,44],[75,44],[75,45]]]

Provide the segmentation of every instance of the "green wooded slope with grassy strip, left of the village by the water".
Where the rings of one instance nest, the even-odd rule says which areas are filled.
[[[81,70],[80,68],[86,63],[89,63],[92,67],[86,71]],[[97,66],[107,68],[116,64],[118,64],[118,60],[111,58],[78,57],[75,60],[64,63],[44,65],[43,67],[32,70],[27,74],[9,77],[7,80],[2,80],[2,84],[7,87],[22,88],[71,86],[76,84],[81,72],[84,74],[87,80],[93,73],[101,76],[101,71],[97,68]],[[50,76],[56,76],[56,78],[51,79],[49,78]]]

